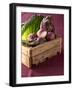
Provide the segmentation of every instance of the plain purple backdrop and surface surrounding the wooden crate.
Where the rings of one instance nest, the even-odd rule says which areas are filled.
[[[25,13],[21,14],[21,23],[27,21],[35,13]],[[53,24],[55,26],[55,32],[58,36],[61,36],[64,42],[64,15],[63,14],[42,14],[43,16],[52,15]],[[44,63],[38,66],[33,66],[32,69],[28,69],[22,64],[21,76],[53,76],[53,75],[63,75],[64,74],[64,46],[62,43],[62,53],[56,55]]]

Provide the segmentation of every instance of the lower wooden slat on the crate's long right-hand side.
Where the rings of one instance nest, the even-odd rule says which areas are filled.
[[[57,52],[60,52],[60,47],[59,46],[54,47],[54,48],[52,48],[50,50],[47,50],[47,51],[45,51],[45,52],[43,52],[43,53],[41,53],[41,54],[39,54],[37,56],[34,56],[33,57],[33,64],[38,64],[38,63],[44,62],[46,57],[50,58],[50,57],[56,55]]]

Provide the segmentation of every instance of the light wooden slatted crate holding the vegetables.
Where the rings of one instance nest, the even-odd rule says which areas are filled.
[[[62,38],[60,37],[35,47],[26,47],[22,45],[22,63],[28,68],[31,68],[32,64],[38,65],[44,62],[46,60],[45,58],[50,58],[58,52],[61,53],[61,47]]]

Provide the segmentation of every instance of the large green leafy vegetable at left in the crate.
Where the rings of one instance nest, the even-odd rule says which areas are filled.
[[[43,16],[32,16],[25,24],[21,27],[22,40],[27,40],[30,33],[36,33],[40,28],[40,23]]]

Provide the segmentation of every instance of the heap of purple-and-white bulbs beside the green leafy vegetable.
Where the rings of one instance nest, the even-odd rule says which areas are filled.
[[[44,42],[45,40],[53,40],[56,37],[54,30],[54,25],[51,23],[51,16],[46,16],[41,21],[40,29],[38,30],[38,32],[36,34],[31,33],[28,35],[28,41],[34,43]]]

